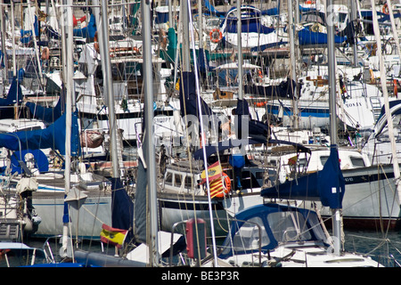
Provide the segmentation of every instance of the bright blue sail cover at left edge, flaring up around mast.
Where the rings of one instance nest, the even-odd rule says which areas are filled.
[[[45,129],[0,134],[0,147],[11,151],[39,150],[51,148],[65,155],[66,115],[58,118]],[[71,156],[80,154],[78,111],[72,113]]]

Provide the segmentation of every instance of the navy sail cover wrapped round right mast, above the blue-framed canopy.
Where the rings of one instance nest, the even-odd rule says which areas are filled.
[[[340,170],[339,152],[331,145],[323,170],[263,189],[266,198],[320,200],[323,206],[342,208],[345,180]]]

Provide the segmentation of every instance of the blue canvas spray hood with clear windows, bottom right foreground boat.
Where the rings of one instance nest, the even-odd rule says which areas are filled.
[[[235,216],[219,257],[262,252],[285,242],[324,244],[322,226],[314,211],[279,204],[262,204],[247,208]],[[298,230],[297,230],[298,229]]]

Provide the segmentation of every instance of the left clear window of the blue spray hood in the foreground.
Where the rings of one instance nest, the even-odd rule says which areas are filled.
[[[259,240],[261,240],[261,247],[270,243],[262,219],[256,216],[251,218],[249,222],[242,224],[238,232],[235,233],[233,248],[236,250],[258,249]]]

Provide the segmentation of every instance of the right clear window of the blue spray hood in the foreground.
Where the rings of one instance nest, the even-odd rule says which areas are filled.
[[[279,242],[310,240],[307,222],[298,212],[277,212],[267,216],[275,240]]]

